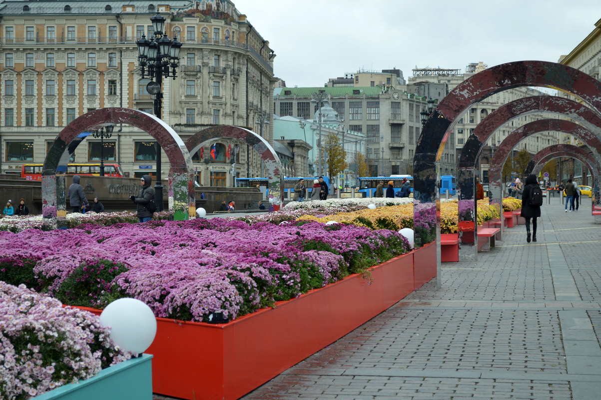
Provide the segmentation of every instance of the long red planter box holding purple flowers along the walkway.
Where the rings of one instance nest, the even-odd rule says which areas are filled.
[[[190,400],[242,397],[435,277],[436,244],[374,266],[369,275],[350,275],[228,324],[157,318],[146,351],[154,355],[153,392]]]

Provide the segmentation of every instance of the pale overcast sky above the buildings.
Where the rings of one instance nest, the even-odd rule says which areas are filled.
[[[601,19],[601,0],[233,0],[288,87],[359,69],[557,62]]]

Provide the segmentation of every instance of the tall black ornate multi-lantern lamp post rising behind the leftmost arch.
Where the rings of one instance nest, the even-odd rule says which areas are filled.
[[[154,115],[161,118],[161,106],[163,100],[162,83],[163,76],[170,76],[175,80],[177,76],[177,67],[179,66],[180,49],[182,43],[178,42],[177,37],[169,40],[163,29],[165,28],[165,17],[157,13],[150,18],[154,32],[148,40],[144,34],[136,42],[138,45],[138,62],[141,67],[140,75],[142,79],[145,76],[150,78],[146,85],[146,90],[154,96]],[[160,176],[160,144],[156,143],[156,185],[154,186],[154,202],[157,211],[163,211],[163,185]]]

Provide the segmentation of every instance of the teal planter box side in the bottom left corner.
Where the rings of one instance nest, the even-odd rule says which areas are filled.
[[[57,387],[32,400],[152,400],[152,355],[132,358],[96,377]]]

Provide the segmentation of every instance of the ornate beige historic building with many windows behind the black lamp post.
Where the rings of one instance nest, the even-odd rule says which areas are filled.
[[[150,17],[166,18],[165,34],[183,43],[177,78],[163,78],[162,119],[186,140],[209,125],[245,126],[273,144],[273,59],[269,42],[228,0],[8,1],[0,5],[0,170],[15,173],[42,163],[49,143],[68,123],[102,107],[153,113],[153,96],[142,78],[136,41],[150,37]],[[231,186],[228,141],[216,140],[193,155],[204,185]],[[236,174],[258,176],[260,160],[243,143]],[[154,173],[150,135],[115,127],[103,143],[105,161],[130,176]],[[234,158],[234,155],[232,156]],[[87,138],[73,162],[100,159],[100,141]],[[163,174],[168,164],[163,154]],[[150,166],[149,166],[150,165]],[[207,168],[207,165],[209,167]],[[202,167],[202,168],[201,168]]]

